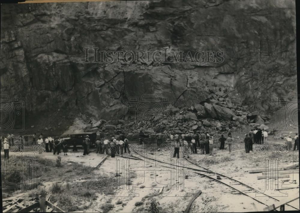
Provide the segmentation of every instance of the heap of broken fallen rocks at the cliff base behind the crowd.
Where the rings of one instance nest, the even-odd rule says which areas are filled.
[[[250,111],[247,106],[236,101],[232,104],[226,89],[222,88],[216,88],[216,91],[211,91],[209,99],[190,107],[162,109],[161,113],[146,115],[143,117],[144,120],[137,116],[130,114],[125,120],[108,121],[89,119],[84,116],[85,127],[83,130],[105,134],[138,133],[141,129],[148,133],[168,133],[169,131],[221,133],[229,129],[241,129],[246,125],[258,127],[268,124],[270,119],[257,111]],[[154,124],[156,124],[155,128],[153,128]]]

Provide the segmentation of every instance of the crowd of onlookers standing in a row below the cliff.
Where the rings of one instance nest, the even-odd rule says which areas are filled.
[[[67,155],[68,152],[68,144],[67,141],[63,140],[61,137],[43,137],[41,133],[39,137],[37,134],[32,135],[32,141],[29,141],[29,135],[27,133],[24,136],[14,136],[8,134],[1,136],[1,149],[2,146],[4,148],[4,158],[9,158],[9,149],[11,149],[14,143],[20,143],[24,146],[29,146],[33,144],[39,144],[44,149],[42,152],[53,152],[53,155],[59,155],[64,152],[64,155]],[[220,143],[219,149],[225,149],[225,143],[228,147],[228,151],[232,152],[232,143],[235,141],[235,138],[232,138],[231,131],[228,132],[227,138],[224,135],[221,135],[218,138],[218,142]],[[284,135],[284,140],[286,141],[286,149],[291,150],[294,147],[294,150],[299,149],[299,138],[298,134],[292,138],[290,135]],[[142,143],[143,140],[140,140]],[[174,146],[174,154],[173,157],[179,158],[179,148],[181,146],[187,147],[187,149],[183,149],[185,151],[184,155],[189,157],[189,153],[197,154],[198,149],[200,150],[200,154],[209,154],[214,155],[214,146],[215,139],[208,132],[187,132],[185,134],[170,134],[170,137],[167,139],[168,142],[172,142]],[[268,132],[265,129],[251,129],[250,132],[245,134],[244,144],[245,144],[245,152],[250,153],[253,151],[253,144],[262,144],[268,141]],[[156,143],[157,146],[160,147],[163,140],[160,137],[160,134],[156,135]],[[241,141],[242,142],[242,141]],[[77,152],[76,142],[73,143],[73,152]],[[109,140],[108,137],[100,138],[97,136],[96,142],[96,154],[110,154],[112,157],[115,157],[116,154],[123,155],[123,152],[126,153],[128,150],[129,141],[122,133],[119,137],[113,137]],[[90,151],[91,140],[89,135],[86,135],[82,140],[83,147],[83,155],[88,155]],[[198,148],[197,148],[198,147]]]

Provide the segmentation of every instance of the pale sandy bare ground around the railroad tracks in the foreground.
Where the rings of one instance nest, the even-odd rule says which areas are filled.
[[[233,134],[236,138],[232,147],[232,152],[228,149],[218,149],[218,143],[215,143],[214,156],[199,154],[190,154],[189,160],[206,167],[212,171],[222,173],[223,175],[232,177],[253,188],[258,189],[265,194],[276,196],[278,200],[299,195],[299,188],[275,191],[274,189],[265,190],[266,184],[269,186],[277,186],[273,179],[257,179],[262,173],[249,173],[250,169],[264,168],[266,159],[270,158],[270,154],[276,154],[276,145],[280,144],[279,140],[269,137],[268,152],[263,153],[261,150],[253,146],[253,152],[245,153],[244,143],[241,143],[242,134]],[[225,148],[226,145],[225,145]],[[140,153],[144,153],[149,158],[156,158],[160,161],[185,165],[200,169],[199,167],[184,161],[184,158],[172,158],[173,153],[164,151],[155,151],[151,146],[140,146]],[[172,151],[171,151],[172,152]],[[1,153],[2,154],[2,153]],[[29,154],[29,152],[22,153]],[[20,155],[10,153],[10,155]],[[36,154],[39,158],[46,158],[55,161],[58,155],[52,153]],[[133,154],[134,155],[134,154]],[[182,155],[182,153],[180,153]],[[268,156],[267,156],[268,155]],[[273,156],[272,155],[272,156]],[[67,156],[63,154],[61,163],[67,167],[71,163],[78,163],[88,167],[97,167],[97,165],[107,156],[105,154],[96,154],[91,152],[89,155],[83,156],[82,152],[69,152]],[[129,157],[129,155],[123,155]],[[138,156],[135,154],[135,156]],[[293,162],[298,162],[298,152],[288,151],[275,156],[278,159],[279,167],[286,167]],[[274,158],[274,156],[273,156]],[[2,158],[3,159],[3,158]],[[265,205],[247,197],[243,194],[231,193],[232,188],[211,181],[206,177],[194,173],[189,169],[174,167],[170,169],[166,164],[157,163],[145,159],[145,161],[110,156],[104,163],[88,174],[90,176],[82,179],[82,176],[74,176],[70,181],[65,181],[61,177],[53,178],[53,181],[61,182],[84,182],[97,180],[102,176],[114,177],[116,180],[115,187],[108,193],[97,193],[97,197],[90,200],[83,211],[79,212],[149,212],[149,201],[155,199],[162,208],[161,212],[184,212],[188,203],[199,190],[202,191],[192,203],[189,212],[255,212],[262,211]],[[86,175],[85,175],[86,176]],[[213,175],[215,177],[215,175]],[[280,181],[283,179],[296,180],[296,183]],[[289,178],[279,178],[279,188],[299,187],[299,174],[289,174]],[[52,182],[44,182],[45,186],[51,185]],[[105,186],[104,186],[105,187]],[[271,187],[270,187],[271,188]],[[259,196],[259,195],[256,195]],[[274,203],[270,200],[268,205]],[[110,205],[110,208],[103,209],[104,205]],[[299,209],[299,200],[291,205]],[[59,206],[59,205],[58,205]]]

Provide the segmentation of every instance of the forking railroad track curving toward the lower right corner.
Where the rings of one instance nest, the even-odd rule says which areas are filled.
[[[215,182],[218,182],[218,183],[221,183],[223,185],[226,185],[228,186],[229,188],[232,188],[234,191],[236,192],[239,192],[240,194],[243,194],[247,197],[250,197],[251,199],[257,201],[258,203],[261,203],[265,206],[269,206],[271,204],[274,203],[274,201],[279,201],[277,200],[276,198],[274,197],[271,197],[265,193],[262,193],[260,192],[259,190],[245,184],[245,183],[242,183],[238,180],[235,180],[231,177],[228,177],[226,175],[223,175],[223,174],[220,174],[220,173],[217,173],[217,172],[214,172],[214,171],[211,171],[205,167],[202,167],[198,164],[195,164],[193,163],[192,161],[188,160],[187,158],[185,158],[186,161],[188,161],[190,164],[192,164],[193,166],[196,166],[196,167],[199,167],[201,169],[196,169],[196,168],[193,168],[193,167],[187,167],[187,166],[179,166],[179,165],[174,165],[174,164],[170,164],[170,163],[167,163],[167,162],[164,162],[164,161],[160,161],[160,160],[157,160],[157,159],[152,159],[152,158],[149,158],[149,157],[146,157],[146,156],[143,156],[141,155],[140,153],[138,152],[134,152],[135,154],[137,155],[140,155],[142,158],[146,158],[148,160],[152,160],[152,161],[156,161],[156,162],[160,162],[162,164],[168,164],[168,165],[171,165],[171,166],[176,166],[176,167],[182,167],[182,168],[185,168],[185,169],[189,169],[189,170],[193,170],[194,173],[196,174],[199,174],[201,175],[202,177],[207,177]],[[133,157],[135,158],[138,158],[134,155],[132,155]],[[165,167],[169,167],[169,166],[165,166]],[[171,167],[169,167],[171,168]],[[215,178],[217,176],[220,176],[220,178]],[[238,186],[238,187],[237,187]],[[262,194],[264,195],[265,197],[256,197],[256,194]],[[289,204],[286,204],[286,209],[285,210],[299,210],[298,208],[292,206],[292,205],[289,205]]]

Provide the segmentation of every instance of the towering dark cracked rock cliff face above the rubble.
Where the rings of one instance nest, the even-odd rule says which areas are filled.
[[[296,92],[295,1],[2,5],[1,94],[26,112],[124,118],[129,97],[269,111]],[[222,63],[83,63],[102,51],[223,51]],[[236,110],[232,108],[232,110]],[[207,113],[207,111],[206,111]]]

